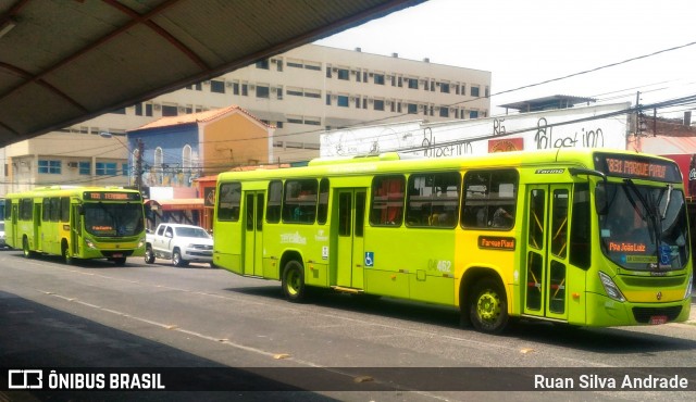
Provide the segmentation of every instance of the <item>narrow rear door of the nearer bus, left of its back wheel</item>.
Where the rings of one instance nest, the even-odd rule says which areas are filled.
[[[244,275],[263,276],[263,200],[265,191],[245,191]]]

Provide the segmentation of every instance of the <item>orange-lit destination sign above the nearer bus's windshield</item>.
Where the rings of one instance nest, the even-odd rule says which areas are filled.
[[[645,178],[650,180],[680,183],[676,163],[634,155],[606,155],[595,158],[597,169],[610,176]]]

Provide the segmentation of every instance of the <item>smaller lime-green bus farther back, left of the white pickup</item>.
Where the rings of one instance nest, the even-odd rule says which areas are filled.
[[[145,255],[145,214],[137,190],[117,187],[42,187],[10,193],[4,205],[8,246],[37,253],[108,259],[124,265]]]

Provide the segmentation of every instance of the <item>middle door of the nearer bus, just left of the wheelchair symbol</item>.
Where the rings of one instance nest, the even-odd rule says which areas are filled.
[[[364,287],[364,222],[365,189],[340,189],[334,198],[338,203],[338,244],[336,285]]]

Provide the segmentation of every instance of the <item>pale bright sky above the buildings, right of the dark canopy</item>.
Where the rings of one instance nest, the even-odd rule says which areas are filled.
[[[695,21],[693,0],[430,0],[318,43],[489,71],[496,115],[498,104],[557,93],[633,103],[641,91],[644,104],[696,93],[696,45],[685,46],[696,42]]]

